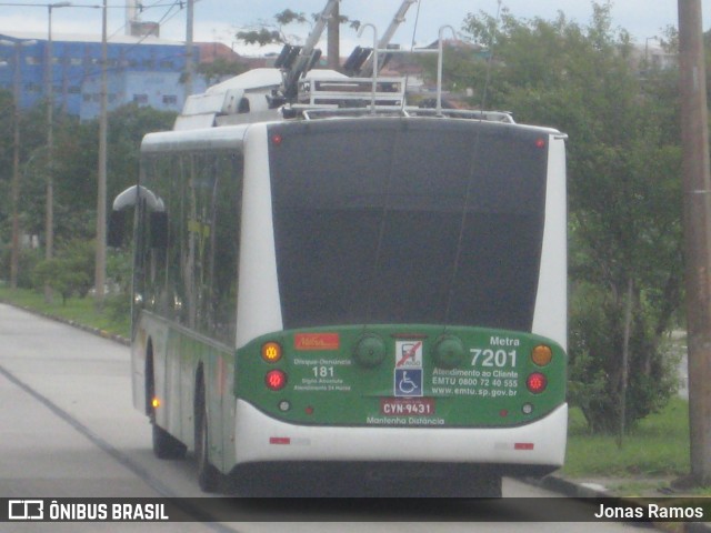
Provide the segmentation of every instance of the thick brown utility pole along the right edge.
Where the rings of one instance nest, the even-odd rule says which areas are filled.
[[[711,484],[711,177],[701,0],[678,0],[691,477]]]

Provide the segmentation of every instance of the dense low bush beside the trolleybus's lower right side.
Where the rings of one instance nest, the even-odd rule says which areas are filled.
[[[620,428],[625,299],[600,285],[581,283],[571,299],[569,399],[593,432]],[[677,391],[678,358],[665,353],[655,333],[654,308],[632,299],[625,428],[659,412]]]

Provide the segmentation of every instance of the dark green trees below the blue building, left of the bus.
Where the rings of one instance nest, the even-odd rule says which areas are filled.
[[[0,93],[0,117],[2,115]],[[108,198],[136,183],[139,149],[143,135],[172,129],[176,113],[122,107],[109,115]],[[11,128],[0,131],[0,148],[10,143]],[[74,239],[90,240],[96,234],[97,173],[99,150],[98,121],[80,122],[76,117],[54,115],[54,232],[58,249]],[[8,135],[10,135],[8,140]],[[44,235],[47,198],[47,108],[38,105],[21,113],[20,220],[23,232]],[[0,151],[0,158],[6,155]],[[0,160],[1,161],[1,160]],[[0,247],[10,241],[9,179],[12,164],[0,165]],[[2,194],[7,191],[8,194]],[[4,244],[7,248],[7,244]],[[32,255],[33,257],[33,255]],[[9,273],[3,269],[2,274]],[[93,275],[93,274],[92,274]]]

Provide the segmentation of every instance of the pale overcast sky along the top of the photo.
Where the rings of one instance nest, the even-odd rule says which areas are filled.
[[[19,3],[18,6],[8,6]],[[47,2],[42,0],[0,0],[0,33],[4,31],[47,32]],[[109,0],[109,33],[124,33],[126,2]],[[143,21],[161,21],[161,37],[164,39],[184,40],[186,10],[180,9],[179,0],[142,0],[146,9],[141,14]],[[184,4],[184,0],[182,2]],[[397,12],[402,0],[341,0],[341,13],[361,22],[371,22],[382,33]],[[414,22],[419,22],[415,43],[432,42],[438,29],[449,24],[459,30],[468,13],[484,11],[497,13],[499,0],[420,0],[410,7],[407,22],[403,23],[393,42],[409,44],[414,31]],[[581,24],[590,21],[592,14],[591,0],[502,0],[502,6],[520,18],[540,17],[545,20],[557,18],[564,12],[569,20]],[[40,7],[33,7],[40,4]],[[52,32],[57,33],[101,33],[101,10],[92,9],[101,4],[101,0],[72,0],[72,7],[53,9]],[[196,0],[194,39],[197,41],[219,40],[241,52],[249,52],[244,47],[234,43],[234,33],[258,24],[260,21],[273,21],[274,13],[290,8],[304,13],[316,13],[323,9],[326,0]],[[678,24],[677,0],[617,0],[612,4],[613,24],[628,30],[637,42],[661,34],[668,26]],[[711,1],[703,2],[703,28],[711,26]],[[303,36],[308,28],[289,29]],[[369,44],[372,32],[368,30],[361,41],[350,29],[341,31],[343,40],[342,54],[350,51],[356,42]],[[258,52],[258,51],[256,51]]]

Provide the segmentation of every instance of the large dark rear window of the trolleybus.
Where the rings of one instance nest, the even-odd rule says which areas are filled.
[[[540,133],[360,119],[274,125],[274,134],[284,328],[530,331],[545,199]]]

